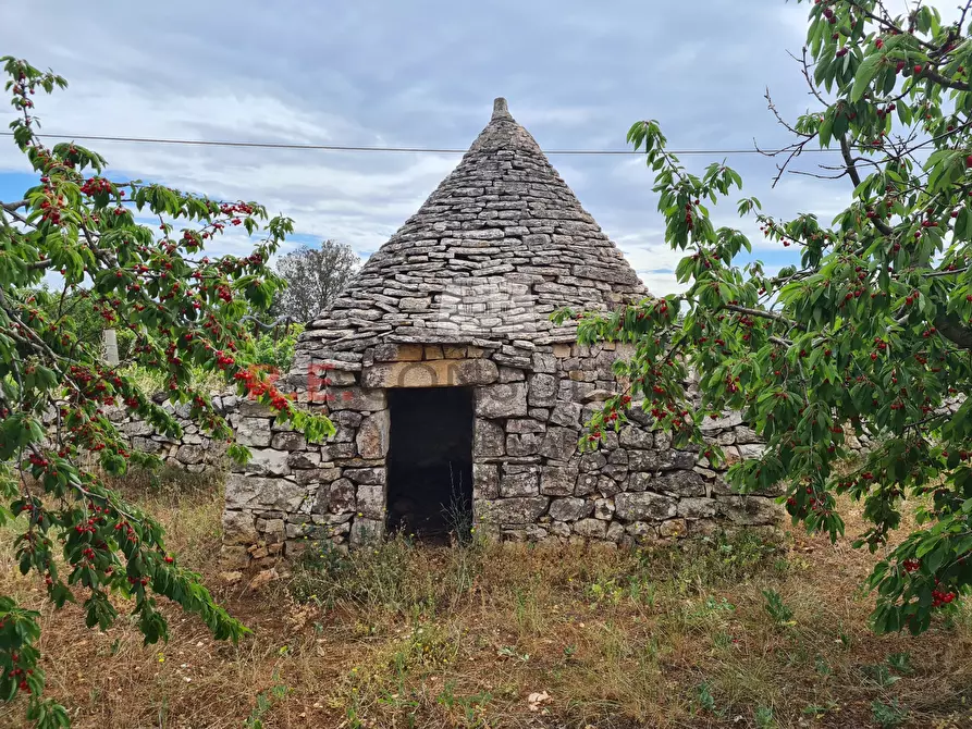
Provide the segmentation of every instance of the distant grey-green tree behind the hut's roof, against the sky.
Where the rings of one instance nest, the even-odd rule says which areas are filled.
[[[311,321],[341,293],[359,263],[350,246],[334,240],[324,240],[320,248],[300,246],[281,257],[276,271],[287,287],[276,297],[272,313]]]

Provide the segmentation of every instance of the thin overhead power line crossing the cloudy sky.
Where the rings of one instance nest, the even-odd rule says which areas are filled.
[[[0,135],[10,137],[11,132],[0,132]],[[70,139],[84,141],[122,141],[140,145],[184,145],[194,147],[242,147],[250,149],[303,149],[327,152],[413,152],[433,155],[465,155],[467,149],[451,149],[436,147],[362,147],[352,145],[302,145],[274,141],[229,141],[217,139],[162,139],[156,137],[114,137],[94,134],[38,134],[38,137],[49,139]],[[772,155],[782,152],[780,149],[669,149],[672,155]],[[839,149],[807,149],[804,155],[816,152],[839,152]],[[642,151],[632,149],[545,149],[544,155],[643,155]]]

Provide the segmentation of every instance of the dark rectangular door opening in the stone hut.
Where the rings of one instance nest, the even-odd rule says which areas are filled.
[[[465,387],[389,391],[389,531],[462,539],[472,526],[472,393]]]

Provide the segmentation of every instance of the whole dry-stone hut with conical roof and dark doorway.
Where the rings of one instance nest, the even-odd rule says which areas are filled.
[[[612,542],[772,521],[767,498],[730,495],[637,408],[578,452],[626,353],[578,345],[551,313],[647,295],[496,99],[458,166],[302,335],[283,382],[336,434],[308,445],[251,404],[234,416],[254,460],[227,481],[224,556],[266,565],[308,539],[442,535],[470,517],[505,539]],[[759,448],[738,419],[710,428],[730,457]]]

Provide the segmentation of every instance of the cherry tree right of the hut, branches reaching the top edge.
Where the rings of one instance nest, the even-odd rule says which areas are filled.
[[[587,438],[643,398],[676,444],[717,461],[704,419],[740,411],[766,449],[734,465],[731,484],[784,484],[795,523],[832,539],[845,530],[835,497],[861,502],[871,527],[856,545],[883,555],[868,581],[873,627],[916,633],[972,584],[972,3],[955,23],[922,2],[902,15],[879,0],[808,4],[801,71],[813,107],[792,121],[777,114],[796,136],[780,174],[804,149],[836,148],[839,164],[817,174],[847,185],[849,206],[834,220],[780,220],[755,198],[738,201],[770,242],[799,254],[771,275],[740,260],[752,248],[742,232],[712,222],[710,207],[741,177],[722,163],[693,174],[656,122],[635,124],[628,139],[654,173],[688,288],[581,314],[582,341],[637,349],[618,364],[630,391]],[[691,371],[700,401],[686,395]],[[874,445],[848,471],[852,434]],[[891,543],[905,509],[920,529]]]

